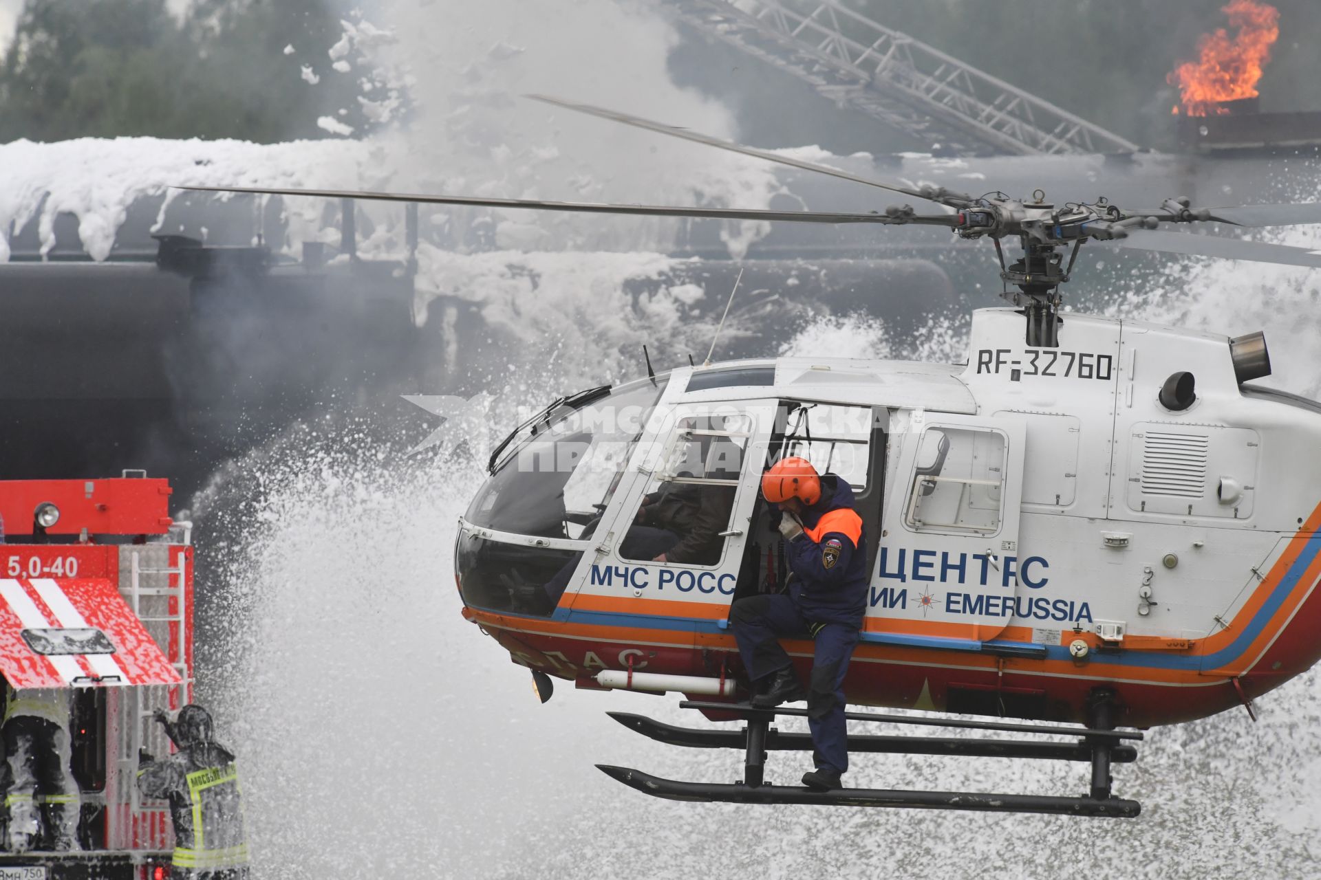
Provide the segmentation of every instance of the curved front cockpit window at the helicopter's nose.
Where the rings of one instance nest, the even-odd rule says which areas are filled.
[[[663,389],[664,381],[621,385],[543,426],[499,463],[468,521],[542,538],[592,537]]]

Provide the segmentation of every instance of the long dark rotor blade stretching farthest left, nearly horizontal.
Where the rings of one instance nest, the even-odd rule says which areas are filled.
[[[830,211],[771,211],[766,208],[667,207],[663,204],[597,204],[593,202],[543,202],[540,199],[494,199],[470,195],[417,195],[407,193],[358,193],[353,190],[284,190],[260,186],[178,186],[197,193],[252,193],[256,195],[312,195],[328,199],[369,199],[375,202],[420,202],[423,204],[468,204],[474,207],[528,208],[539,211],[580,211],[585,214],[642,214],[649,216],[692,216],[721,220],[787,220],[791,223],[881,223],[886,226],[952,227],[952,214],[838,214]]]

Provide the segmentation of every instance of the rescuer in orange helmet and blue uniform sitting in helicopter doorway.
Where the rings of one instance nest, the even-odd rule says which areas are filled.
[[[775,462],[762,475],[761,492],[782,512],[779,532],[794,577],[787,594],[740,599],[729,617],[744,666],[764,687],[752,699],[757,708],[803,698],[779,637],[807,635],[815,641],[807,723],[816,769],[803,774],[803,785],[830,790],[840,788],[848,769],[843,685],[867,610],[863,520],[848,483],[818,475],[802,458]]]

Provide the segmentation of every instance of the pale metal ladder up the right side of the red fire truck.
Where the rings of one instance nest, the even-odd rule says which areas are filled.
[[[192,544],[193,524],[176,522],[174,528],[181,532],[181,537],[168,545],[125,548],[128,577],[120,578],[120,594],[180,677],[178,685],[125,687],[120,691],[123,723],[118,778],[119,785],[127,786],[127,790],[120,790],[118,801],[127,803],[128,815],[123,825],[116,823],[118,827],[112,830],[111,846],[124,850],[155,850],[164,843],[161,835],[169,825],[169,807],[164,801],[144,801],[137,790],[137,756],[143,749],[157,757],[169,755],[169,741],[152,715],[157,708],[180,708],[189,701],[193,689],[185,653],[185,553]],[[159,561],[162,554],[164,565]],[[172,557],[177,561],[174,565],[169,563]]]

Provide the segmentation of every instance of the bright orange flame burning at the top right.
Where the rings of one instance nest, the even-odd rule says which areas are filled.
[[[1238,33],[1231,38],[1225,28],[1218,28],[1202,34],[1197,44],[1201,58],[1180,65],[1166,77],[1170,86],[1180,87],[1189,116],[1225,113],[1222,102],[1256,98],[1262,69],[1271,61],[1271,46],[1280,37],[1280,11],[1272,5],[1230,0],[1223,12]]]

